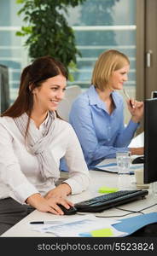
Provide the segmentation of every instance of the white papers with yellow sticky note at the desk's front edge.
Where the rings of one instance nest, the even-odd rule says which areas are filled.
[[[52,233],[54,236],[73,237],[73,236],[125,236],[113,228],[112,224],[119,223],[118,220],[111,218],[97,218],[94,215],[75,216],[65,220],[61,219],[61,224],[40,225],[33,230]],[[102,230],[103,229],[103,230]]]

